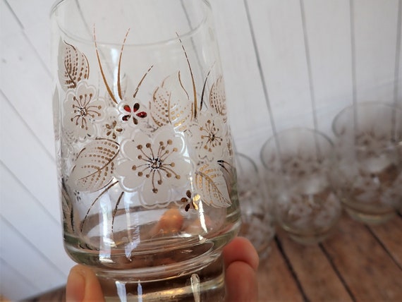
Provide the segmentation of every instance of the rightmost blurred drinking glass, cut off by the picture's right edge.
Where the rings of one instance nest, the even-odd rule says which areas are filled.
[[[386,222],[402,200],[402,109],[363,102],[343,109],[332,126],[332,178],[343,207],[360,222]]]

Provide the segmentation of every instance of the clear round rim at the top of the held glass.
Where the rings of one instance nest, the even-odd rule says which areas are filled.
[[[79,1],[79,0],[57,0],[53,6],[51,6],[50,12],[49,12],[49,18],[55,18],[54,14],[56,13],[57,8],[68,1]],[[141,0],[141,1],[147,1],[147,0]],[[205,7],[207,8],[207,10],[209,12],[212,11],[212,6],[209,3],[209,0],[197,0],[202,2]],[[207,22],[207,18],[208,18],[208,13],[205,13],[205,16],[202,17],[202,19],[200,20],[200,22],[197,24],[197,26],[195,26],[194,28],[192,28],[191,30],[188,30],[187,32],[183,33],[183,34],[179,34],[177,33],[176,37],[171,37],[165,40],[160,40],[157,42],[150,42],[150,43],[127,43],[125,44],[125,47],[155,47],[157,45],[161,45],[161,44],[176,44],[178,43],[178,38],[180,38],[181,40],[185,40],[188,39],[189,37],[193,36],[195,34],[195,32],[197,32],[198,30],[200,30],[200,28],[202,28],[202,25],[204,25]],[[66,36],[71,37],[71,39],[75,40],[75,41],[79,41],[79,42],[87,42],[87,43],[93,43],[94,40],[88,40],[88,39],[83,39],[80,37],[76,37],[71,35],[70,33],[68,33],[64,28],[62,28],[59,24],[59,22],[56,20],[57,23],[57,28],[59,28],[59,30],[61,30],[61,32],[63,32]],[[115,43],[115,42],[105,42],[103,40],[101,41],[97,41],[97,44],[102,44],[102,45],[116,45],[116,46],[121,46],[121,43]]]

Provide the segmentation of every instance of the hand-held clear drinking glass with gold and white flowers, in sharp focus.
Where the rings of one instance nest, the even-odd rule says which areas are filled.
[[[63,0],[51,21],[68,255],[110,301],[221,301],[240,210],[209,3]]]

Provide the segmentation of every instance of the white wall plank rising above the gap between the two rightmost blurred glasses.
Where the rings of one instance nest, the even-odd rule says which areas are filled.
[[[317,128],[331,135],[334,116],[353,102],[349,0],[302,0]]]

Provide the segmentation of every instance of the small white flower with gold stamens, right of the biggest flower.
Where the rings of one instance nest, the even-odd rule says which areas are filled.
[[[197,147],[201,159],[210,161],[220,159],[227,147],[226,131],[221,116],[211,113],[198,117],[197,123],[190,126],[193,134],[192,143]]]

